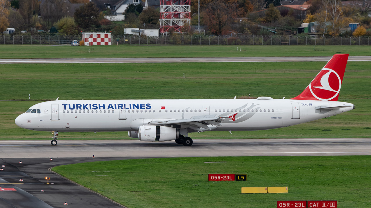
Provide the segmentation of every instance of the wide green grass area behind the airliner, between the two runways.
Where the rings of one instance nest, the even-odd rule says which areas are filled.
[[[17,115],[39,100],[70,99],[232,99],[235,95],[292,98],[300,94],[325,62],[6,64],[0,68],[0,140],[50,138],[25,130]],[[340,101],[355,110],[306,124],[265,131],[203,132],[197,138],[370,137],[370,62],[349,62]],[[186,78],[183,79],[183,72]],[[28,101],[28,95],[37,101]],[[26,101],[19,101],[26,100]],[[325,131],[331,130],[331,131]],[[126,132],[66,132],[59,139],[121,139]]]

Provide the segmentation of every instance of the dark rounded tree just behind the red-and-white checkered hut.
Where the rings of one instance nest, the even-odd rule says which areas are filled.
[[[75,21],[83,29],[96,27],[100,19],[99,9],[94,3],[83,4],[75,11]]]

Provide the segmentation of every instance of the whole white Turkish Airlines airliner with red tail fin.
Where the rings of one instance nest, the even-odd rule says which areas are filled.
[[[190,146],[188,133],[253,131],[287,127],[354,109],[339,102],[349,54],[335,54],[308,87],[291,99],[55,100],[38,103],[15,123],[35,131],[128,131],[141,141]]]

